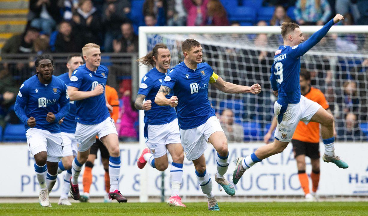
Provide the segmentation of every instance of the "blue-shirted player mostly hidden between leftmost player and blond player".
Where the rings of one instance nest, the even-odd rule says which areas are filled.
[[[81,54],[71,54],[67,59],[68,72],[61,74],[57,78],[65,82],[66,85],[70,82],[72,72],[83,64]],[[74,101],[70,101],[70,111],[66,117],[59,121],[61,137],[63,138],[63,158],[59,161],[59,168],[57,172],[67,170],[64,176],[63,189],[61,191],[60,199],[57,204],[59,205],[71,205],[68,200],[68,194],[70,191],[70,177],[71,177],[71,163],[75,156],[77,156],[77,140],[74,137],[75,133],[75,114],[77,113],[77,107]]]

